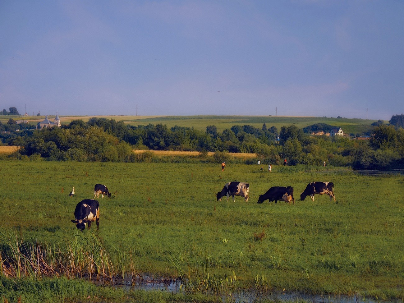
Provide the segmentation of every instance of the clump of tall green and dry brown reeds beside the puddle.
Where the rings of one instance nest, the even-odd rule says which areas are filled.
[[[109,280],[116,275],[100,238],[77,234],[72,239],[48,244],[24,242],[15,233],[1,232],[0,275],[17,278],[88,277]]]

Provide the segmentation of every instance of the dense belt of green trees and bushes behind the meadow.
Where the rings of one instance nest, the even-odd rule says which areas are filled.
[[[61,128],[2,136],[4,143],[24,147],[19,151],[21,156],[62,161],[133,162],[137,158],[132,149],[155,149],[256,153],[265,164],[282,164],[286,158],[290,165],[321,165],[325,161],[355,168],[404,168],[404,129],[386,124],[375,126],[366,141],[311,136],[294,125],[282,126],[279,132],[265,124],[262,128],[235,125],[219,133],[214,125],[201,131],[164,124],[127,126],[105,118],[73,120]]]

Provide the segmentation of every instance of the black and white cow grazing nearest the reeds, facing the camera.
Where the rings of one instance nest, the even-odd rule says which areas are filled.
[[[76,205],[76,209],[74,210],[75,220],[72,220],[73,223],[76,223],[76,227],[83,231],[86,228],[86,224],[88,223],[88,229],[90,229],[91,223],[95,221],[98,225],[100,223],[100,209],[99,203],[94,199],[84,199]]]

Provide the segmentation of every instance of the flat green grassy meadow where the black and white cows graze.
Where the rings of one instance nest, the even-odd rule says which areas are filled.
[[[268,173],[233,162],[221,172],[220,164],[200,161],[0,161],[0,276],[147,274],[180,277],[198,293],[285,289],[404,298],[402,175],[362,176],[331,166],[273,166]],[[247,203],[216,200],[229,181],[250,184]],[[334,182],[337,202],[325,195],[300,201],[311,181]],[[93,224],[82,233],[71,222],[74,208],[93,198],[96,183],[113,196],[97,199],[99,230]],[[257,204],[269,187],[288,185],[295,205]]]

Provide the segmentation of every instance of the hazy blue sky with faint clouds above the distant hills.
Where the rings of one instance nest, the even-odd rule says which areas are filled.
[[[0,110],[389,120],[403,97],[402,0],[0,0]]]

